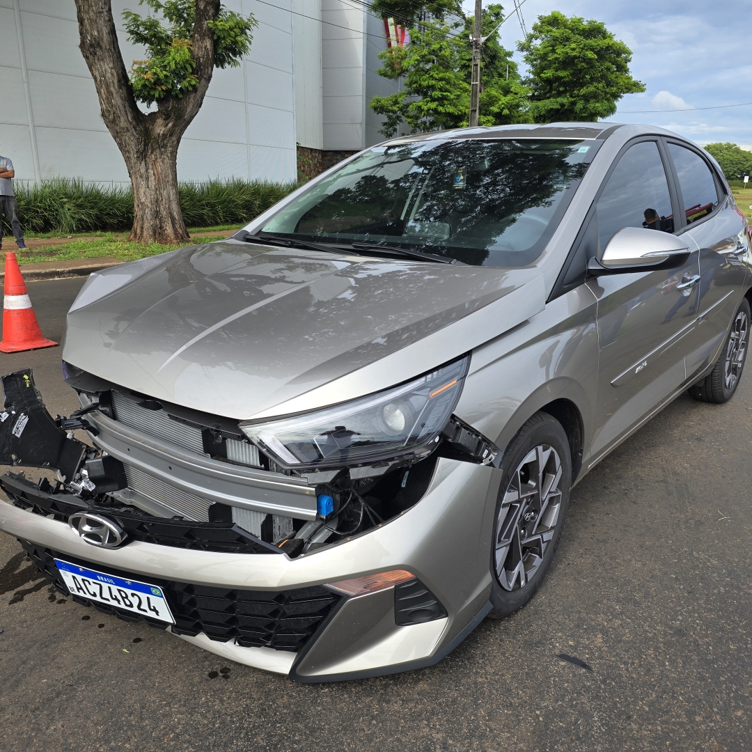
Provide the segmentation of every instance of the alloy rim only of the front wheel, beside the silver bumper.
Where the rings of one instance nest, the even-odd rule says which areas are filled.
[[[532,448],[517,465],[496,520],[496,578],[520,590],[543,563],[562,502],[562,463],[548,444]]]

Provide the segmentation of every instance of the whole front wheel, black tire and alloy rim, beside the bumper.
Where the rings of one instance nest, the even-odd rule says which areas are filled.
[[[538,412],[509,444],[491,548],[490,617],[522,608],[540,587],[559,546],[572,484],[561,423]]]

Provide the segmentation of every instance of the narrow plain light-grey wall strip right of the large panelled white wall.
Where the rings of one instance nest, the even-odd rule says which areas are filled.
[[[298,143],[323,149],[321,114],[321,0],[293,0]]]

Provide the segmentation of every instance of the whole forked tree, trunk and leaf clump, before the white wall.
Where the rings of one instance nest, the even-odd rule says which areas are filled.
[[[75,0],[80,50],[99,96],[102,120],[123,154],[133,186],[130,239],[188,241],[177,195],[177,148],[199,113],[214,68],[240,65],[253,16],[220,0],[139,0],[153,15],[123,12],[129,41],[148,57],[126,71],[111,0]],[[144,112],[142,105],[156,105]]]

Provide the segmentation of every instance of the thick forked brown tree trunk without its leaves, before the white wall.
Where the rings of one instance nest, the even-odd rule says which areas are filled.
[[[102,120],[126,161],[133,186],[133,229],[139,243],[190,240],[177,195],[177,147],[204,102],[214,73],[214,36],[208,22],[217,18],[220,0],[196,0],[193,58],[199,85],[181,99],[166,96],[158,110],[145,114],[135,101],[111,0],[75,0],[80,50],[99,96]]]

